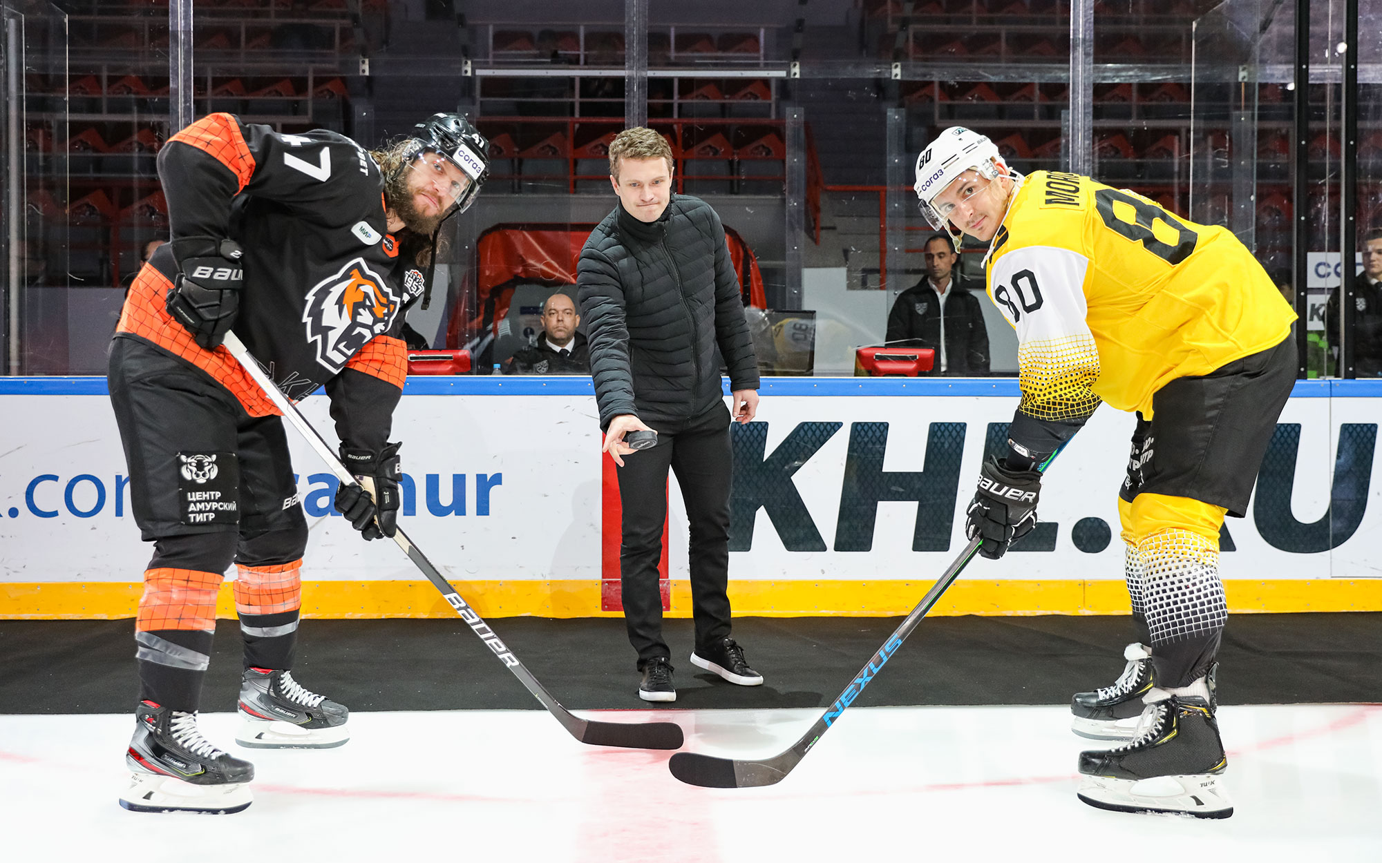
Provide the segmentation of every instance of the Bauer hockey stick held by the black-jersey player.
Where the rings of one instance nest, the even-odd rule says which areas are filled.
[[[351,475],[346,465],[341,464],[332,447],[322,439],[316,429],[299,413],[297,407],[287,400],[274,381],[264,374],[264,369],[258,365],[258,360],[250,355],[249,349],[245,347],[235,333],[225,334],[225,348],[231,352],[231,356],[239,360],[245,366],[245,371],[249,373],[254,382],[260,385],[260,389],[268,395],[269,400],[283,411],[283,418],[293,424],[293,428],[303,435],[307,445],[311,446],[326,467],[336,474],[336,478],[344,483],[354,483],[355,476]],[[562,728],[571,732],[571,736],[582,743],[590,743],[594,746],[622,746],[627,748],[640,750],[674,750],[681,746],[683,735],[681,726],[674,722],[597,722],[594,719],[582,719],[571,714],[569,710],[562,707],[557,699],[551,696],[547,689],[538,682],[538,678],[532,675],[528,668],[514,656],[513,650],[509,649],[504,642],[499,641],[495,631],[489,628],[489,624],[475,613],[475,609],[470,608],[464,599],[456,592],[455,588],[442,577],[442,574],[433,566],[423,552],[413,545],[399,527],[394,534],[394,541],[398,547],[408,554],[408,559],[412,561],[417,569],[422,570],[427,580],[433,583],[441,595],[446,598],[451,608],[456,609],[460,619],[480,637],[485,645],[495,652],[499,661],[513,672],[518,681],[528,688],[528,692],[533,695],[535,699],[542,701],[542,706],[547,708],[547,712],[557,717]]]

